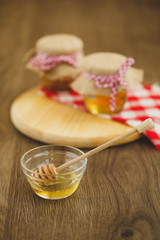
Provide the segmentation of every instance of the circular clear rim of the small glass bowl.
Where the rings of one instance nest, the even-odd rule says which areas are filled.
[[[39,146],[39,147],[35,147],[35,148],[31,148],[31,149],[29,149],[27,152],[25,152],[23,155],[22,155],[22,157],[21,157],[21,159],[20,159],[20,161],[21,161],[21,167],[22,167],[22,169],[23,170],[26,170],[26,171],[28,171],[28,172],[30,172],[30,173],[34,173],[34,171],[33,170],[30,170],[29,168],[27,168],[25,165],[24,165],[24,163],[23,163],[23,159],[25,158],[25,156],[28,154],[28,153],[30,153],[30,152],[32,152],[33,150],[38,150],[38,149],[40,149],[40,148],[46,148],[46,147],[65,147],[65,148],[70,148],[70,149],[72,149],[72,150],[78,150],[80,153],[81,153],[81,155],[84,155],[85,153],[82,151],[82,150],[80,150],[79,148],[76,148],[76,147],[72,147],[72,146],[68,146],[68,145],[53,145],[53,144],[48,144],[48,145],[42,145],[42,146]],[[83,168],[84,166],[86,166],[86,164],[87,164],[87,158],[84,158],[83,159],[84,160],[84,164],[81,166],[81,167],[79,167],[79,168],[77,168],[76,170],[74,170],[74,171],[71,171],[71,172],[69,172],[69,173],[63,173],[62,175],[67,175],[67,174],[71,174],[71,173],[74,173],[75,171],[78,171],[78,170],[80,170],[81,168]],[[82,161],[82,160],[81,160]],[[26,174],[26,173],[25,173]],[[27,174],[28,175],[28,174]],[[47,175],[47,174],[43,174],[44,176],[45,175]],[[48,175],[47,175],[48,176]]]

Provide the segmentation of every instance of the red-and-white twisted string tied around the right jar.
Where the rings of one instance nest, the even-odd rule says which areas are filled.
[[[121,84],[127,88],[127,83],[123,80],[129,67],[135,63],[132,57],[127,58],[127,60],[122,64],[116,74],[110,76],[94,75],[87,72],[83,72],[82,75],[90,80],[95,81],[95,87],[97,88],[111,88],[110,91],[110,110],[114,111],[116,109],[116,94],[118,86]]]

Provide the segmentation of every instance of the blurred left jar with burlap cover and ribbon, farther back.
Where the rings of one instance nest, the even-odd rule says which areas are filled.
[[[37,40],[24,57],[26,68],[36,72],[50,91],[68,90],[81,73],[83,41],[71,34],[52,34]]]

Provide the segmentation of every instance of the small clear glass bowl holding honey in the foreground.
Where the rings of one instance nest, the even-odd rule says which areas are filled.
[[[39,172],[39,169],[44,170],[44,166],[49,164],[58,167],[82,154],[84,152],[74,147],[46,145],[26,152],[21,158],[21,166],[31,188],[38,196],[62,199],[72,195],[78,188],[86,169],[87,158],[63,169],[56,178],[44,171]]]

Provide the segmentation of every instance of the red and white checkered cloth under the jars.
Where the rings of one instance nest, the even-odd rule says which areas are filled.
[[[73,91],[50,92],[45,88],[39,91],[49,98],[67,104],[74,108],[87,111],[83,97]],[[123,110],[114,115],[99,115],[107,119],[128,124],[135,127],[145,119],[152,118],[155,128],[144,132],[156,149],[160,151],[160,86],[159,85],[140,85],[136,89],[128,92],[128,101]]]

